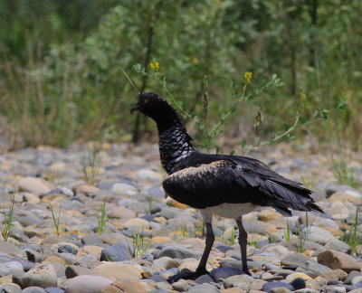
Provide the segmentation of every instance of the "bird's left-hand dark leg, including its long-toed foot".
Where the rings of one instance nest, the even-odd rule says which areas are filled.
[[[189,269],[183,269],[180,273],[172,276],[168,279],[170,283],[176,282],[178,279],[197,279],[198,277],[208,274],[209,272],[206,270],[206,263],[209,257],[210,251],[214,244],[214,232],[213,226],[211,222],[206,222],[206,241],[205,241],[205,250],[201,260],[197,266],[197,269],[194,271],[190,271]]]

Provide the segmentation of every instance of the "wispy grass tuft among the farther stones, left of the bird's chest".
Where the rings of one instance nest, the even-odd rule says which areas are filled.
[[[101,144],[94,142],[90,149],[87,145],[87,150],[81,152],[81,167],[85,181],[90,184],[95,184],[99,180],[100,163],[101,163]]]

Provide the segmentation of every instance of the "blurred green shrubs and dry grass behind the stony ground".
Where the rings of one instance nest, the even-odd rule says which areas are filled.
[[[230,137],[283,128],[303,91],[307,118],[340,99],[348,107],[298,131],[314,143],[359,150],[361,10],[359,0],[0,0],[0,132],[9,148],[147,138],[155,128],[129,114],[137,94],[119,66],[141,90],[166,96],[132,68],[149,71],[156,58],[173,95],[200,118],[207,76],[213,121],[233,102],[230,84],[245,71],[252,88],[281,77],[284,87],[260,98],[262,128],[252,128],[255,99],[224,128]],[[189,128],[202,137],[192,121]]]

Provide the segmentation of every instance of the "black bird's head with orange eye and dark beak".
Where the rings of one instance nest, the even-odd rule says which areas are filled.
[[[175,109],[165,99],[153,92],[139,93],[137,104],[130,110],[131,113],[134,111],[139,111],[153,118],[157,124],[171,122],[177,118]]]

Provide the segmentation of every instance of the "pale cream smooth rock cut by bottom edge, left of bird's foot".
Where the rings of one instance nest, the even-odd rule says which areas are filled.
[[[62,283],[66,293],[100,293],[112,281],[97,276],[78,276]]]

